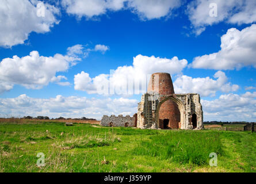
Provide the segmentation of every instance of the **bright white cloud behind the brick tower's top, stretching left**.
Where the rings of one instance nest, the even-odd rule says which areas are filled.
[[[110,74],[90,78],[89,74],[82,71],[74,77],[75,90],[87,91],[89,94],[139,94],[147,89],[148,75],[154,72],[178,74],[187,64],[187,60],[179,60],[178,57],[167,59],[137,55],[133,57],[133,66],[118,67]]]

